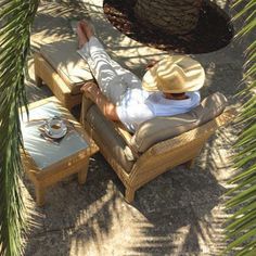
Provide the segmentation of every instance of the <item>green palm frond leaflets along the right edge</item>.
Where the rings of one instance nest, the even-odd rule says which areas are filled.
[[[238,0],[234,7],[244,2]],[[235,16],[245,18],[245,26],[236,36],[244,37],[256,28],[256,2],[248,1],[242,11]],[[231,199],[227,202],[228,208],[235,209],[229,218],[226,232],[232,242],[225,253],[235,252],[235,255],[256,255],[256,42],[254,41],[246,51],[247,61],[244,81],[247,84],[240,95],[245,95],[247,101],[242,107],[238,121],[245,127],[235,144],[238,154],[234,157],[234,167],[242,169],[230,183],[236,184],[228,192]]]

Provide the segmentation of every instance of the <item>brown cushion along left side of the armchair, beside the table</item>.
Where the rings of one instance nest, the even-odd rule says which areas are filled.
[[[97,105],[92,105],[88,110],[86,121],[97,133],[98,138],[93,137],[93,139],[99,148],[106,148],[107,154],[116,159],[127,172],[130,172],[135,157],[124,138],[116,131],[113,123],[102,115]]]

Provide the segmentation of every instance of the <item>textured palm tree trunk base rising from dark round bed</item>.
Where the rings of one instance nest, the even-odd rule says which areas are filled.
[[[188,34],[196,27],[203,0],[137,0],[135,13],[146,26],[167,34]]]

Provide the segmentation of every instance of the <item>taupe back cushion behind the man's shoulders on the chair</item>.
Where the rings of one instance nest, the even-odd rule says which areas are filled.
[[[216,92],[189,113],[146,120],[131,138],[131,146],[137,152],[143,153],[157,142],[174,138],[214,119],[223,112],[226,105],[225,95]]]

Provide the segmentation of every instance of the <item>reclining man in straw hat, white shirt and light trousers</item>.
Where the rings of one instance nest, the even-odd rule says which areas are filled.
[[[187,113],[201,101],[205,73],[195,60],[172,55],[148,69],[142,80],[123,68],[105,52],[90,25],[77,25],[78,53],[87,61],[95,84],[81,88],[111,120],[121,121],[135,131],[141,123],[155,116]]]

